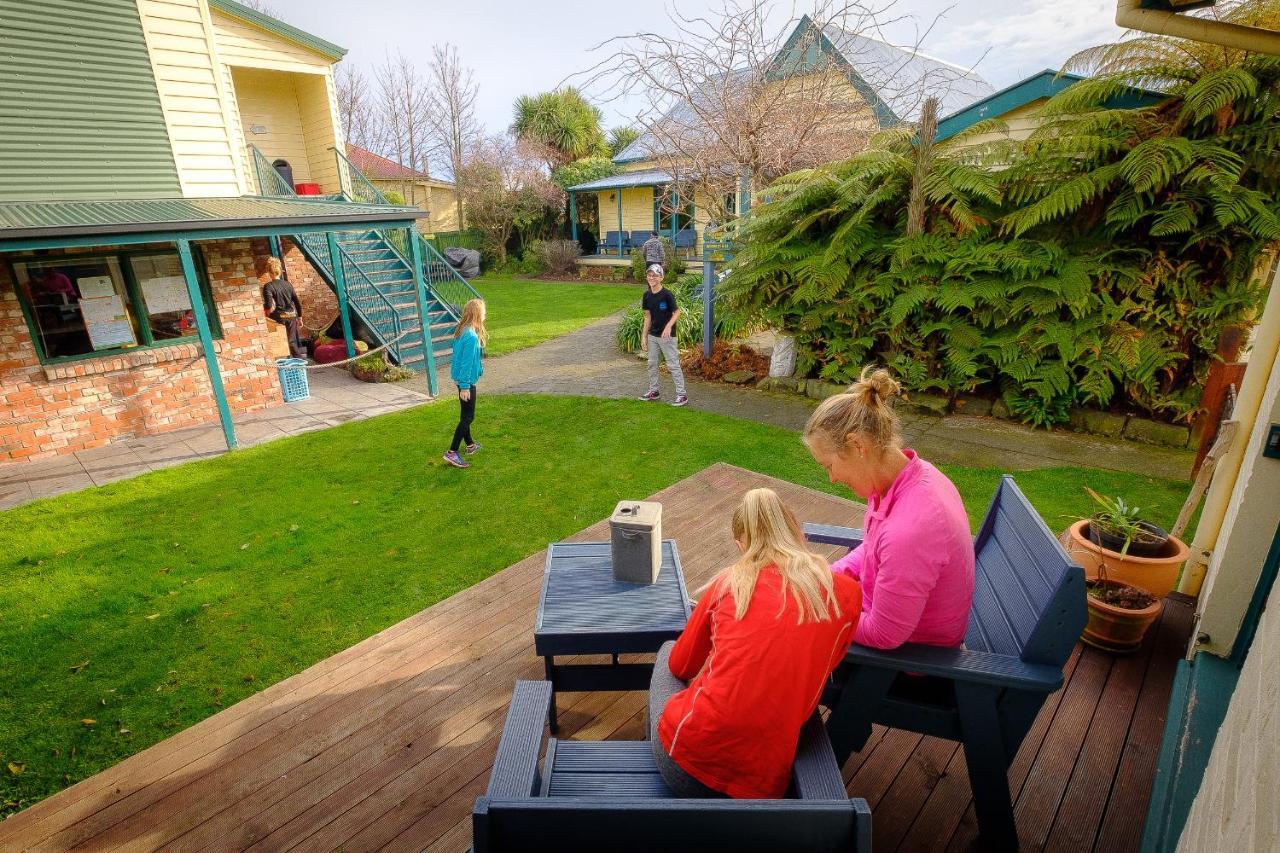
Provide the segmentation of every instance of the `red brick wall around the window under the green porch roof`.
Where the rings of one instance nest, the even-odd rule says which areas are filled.
[[[266,241],[200,246],[223,330],[214,346],[232,411],[280,402],[259,279]],[[41,365],[8,260],[0,256],[0,461],[70,453],[218,419],[198,343]]]

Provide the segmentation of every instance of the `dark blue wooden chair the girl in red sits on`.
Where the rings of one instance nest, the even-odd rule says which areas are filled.
[[[676,799],[648,740],[543,733],[552,685],[516,681],[489,789],[471,815],[475,853],[494,850],[870,850],[870,809],[850,799],[817,715],[805,726],[791,799]]]

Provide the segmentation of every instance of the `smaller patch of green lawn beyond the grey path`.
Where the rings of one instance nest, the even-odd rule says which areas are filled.
[[[489,346],[503,355],[558,338],[631,304],[636,284],[573,284],[520,278],[481,277],[472,282],[485,300]]]

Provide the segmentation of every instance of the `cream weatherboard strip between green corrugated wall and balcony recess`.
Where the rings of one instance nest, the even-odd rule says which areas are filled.
[[[138,14],[183,195],[241,195],[244,178],[225,119],[209,8],[201,0],[138,0]]]

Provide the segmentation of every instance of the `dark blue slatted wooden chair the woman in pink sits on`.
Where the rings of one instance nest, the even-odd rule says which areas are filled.
[[[810,542],[856,547],[861,530],[805,525]],[[977,583],[964,648],[854,646],[824,697],[841,765],[878,722],[964,745],[983,849],[1016,850],[1009,765],[1087,619],[1084,570],[1005,476],[974,538]],[[905,674],[916,675],[905,675]],[[927,678],[919,678],[920,675]]]

